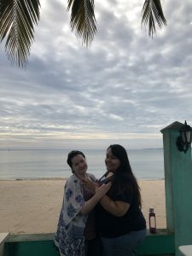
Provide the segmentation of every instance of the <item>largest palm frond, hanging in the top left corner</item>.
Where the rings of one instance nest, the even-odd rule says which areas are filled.
[[[39,0],[0,1],[0,41],[6,39],[5,52],[11,63],[26,65],[38,24]]]

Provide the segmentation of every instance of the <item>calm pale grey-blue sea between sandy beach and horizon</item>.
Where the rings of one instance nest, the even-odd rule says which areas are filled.
[[[68,177],[67,149],[0,150],[0,179]],[[88,172],[101,177],[106,172],[105,150],[84,149]],[[163,149],[127,150],[131,168],[138,180],[164,178]]]

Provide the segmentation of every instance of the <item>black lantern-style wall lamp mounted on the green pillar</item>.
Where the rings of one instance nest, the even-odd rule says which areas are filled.
[[[188,148],[191,144],[192,138],[192,128],[187,125],[187,122],[184,122],[184,125],[180,129],[180,136],[177,137],[177,149],[183,151],[184,154],[188,151]]]

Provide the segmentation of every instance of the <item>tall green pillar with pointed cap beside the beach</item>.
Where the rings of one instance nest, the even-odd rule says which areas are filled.
[[[177,137],[183,124],[174,122],[161,130],[164,144],[167,230],[175,233],[178,247],[192,245],[192,162],[191,147],[186,154],[177,150]]]

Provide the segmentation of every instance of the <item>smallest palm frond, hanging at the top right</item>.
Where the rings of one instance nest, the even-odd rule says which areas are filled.
[[[147,26],[148,24],[148,35],[153,38],[156,32],[154,18],[160,26],[166,26],[166,18],[161,8],[160,0],[145,0],[142,10],[142,25]]]

